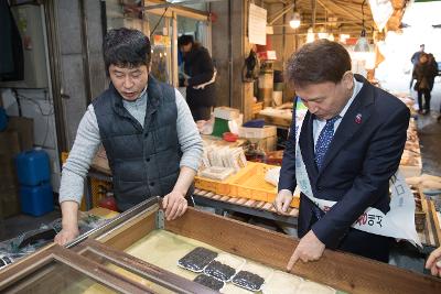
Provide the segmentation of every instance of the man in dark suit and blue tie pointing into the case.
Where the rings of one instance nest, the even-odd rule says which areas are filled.
[[[288,264],[318,260],[325,248],[387,262],[391,238],[351,228],[368,208],[386,214],[389,178],[407,139],[409,110],[396,97],[351,72],[347,51],[335,42],[305,44],[287,75],[308,107],[299,148],[314,198],[336,202],[326,213],[300,196],[299,246]],[[295,110],[283,154],[275,207],[283,214],[297,186]]]

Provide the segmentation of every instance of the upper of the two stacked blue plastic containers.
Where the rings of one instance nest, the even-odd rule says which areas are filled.
[[[21,152],[15,164],[20,185],[36,186],[50,182],[49,155],[43,150]]]

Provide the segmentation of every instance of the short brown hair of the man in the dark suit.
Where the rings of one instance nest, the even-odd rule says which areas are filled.
[[[294,87],[300,88],[325,81],[338,84],[351,67],[349,53],[341,44],[318,40],[292,54],[286,67],[286,76]]]

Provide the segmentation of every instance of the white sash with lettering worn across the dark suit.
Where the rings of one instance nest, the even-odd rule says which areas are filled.
[[[294,105],[295,107],[295,105]],[[294,110],[295,111],[295,110]],[[304,118],[304,117],[303,117]],[[300,123],[299,123],[300,122]],[[295,121],[295,178],[297,186],[320,209],[329,211],[336,202],[315,198],[312,194],[311,183],[304,166],[299,146],[300,130],[303,119]],[[413,246],[421,246],[420,238],[415,228],[415,199],[401,173],[398,171],[389,179],[391,189],[390,210],[385,215],[376,208],[367,208],[364,214],[352,225],[353,228],[386,236],[396,239],[406,239]]]

